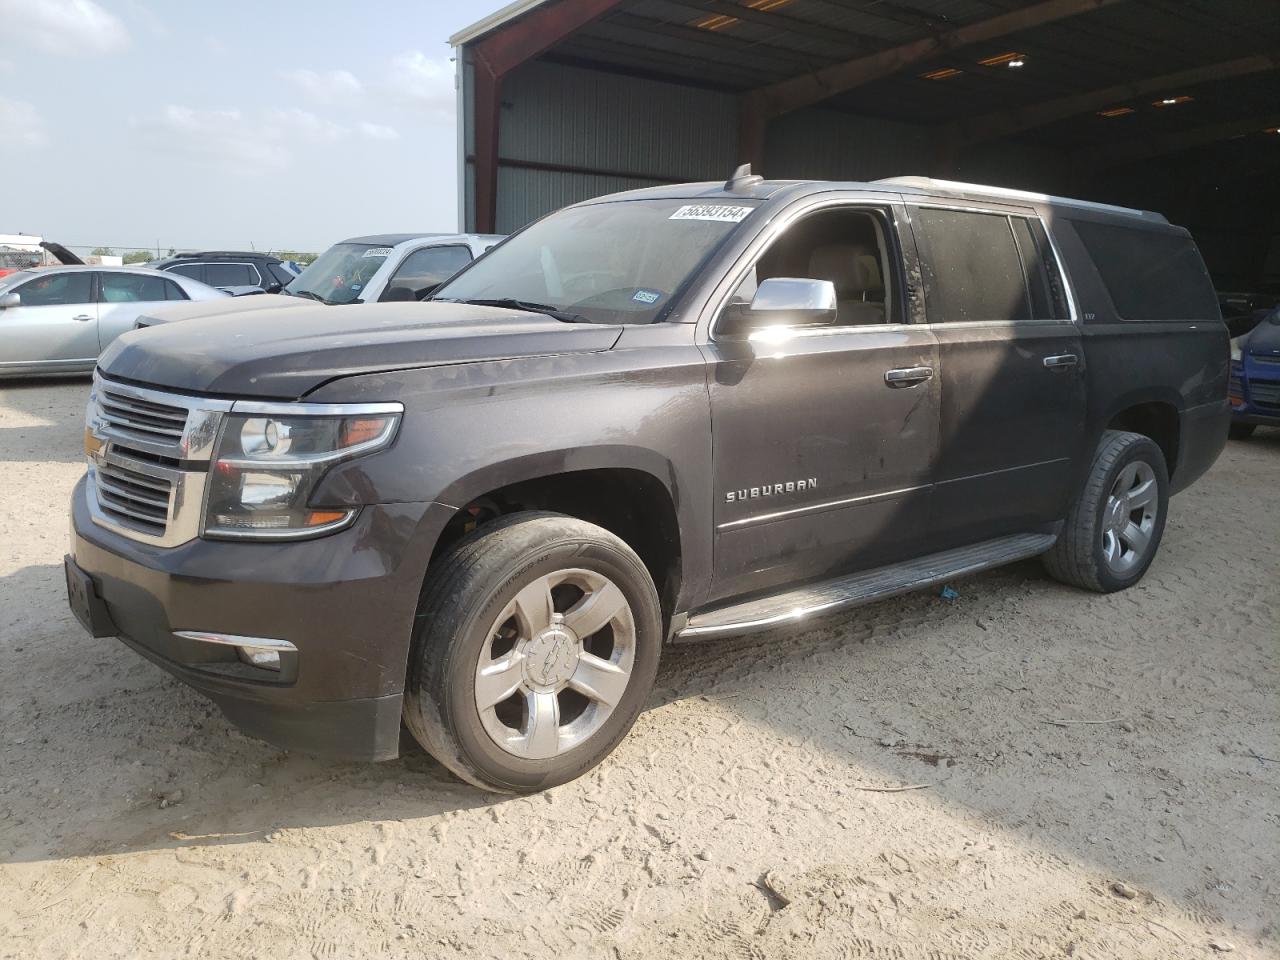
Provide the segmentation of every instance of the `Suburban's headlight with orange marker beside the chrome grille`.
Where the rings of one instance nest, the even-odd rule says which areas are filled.
[[[312,492],[335,463],[390,445],[401,419],[399,404],[388,403],[333,407],[338,413],[323,404],[239,410],[218,440],[205,536],[280,540],[346,526],[356,509],[314,508]]]

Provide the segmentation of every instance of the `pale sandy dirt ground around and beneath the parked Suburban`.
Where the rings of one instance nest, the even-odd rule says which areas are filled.
[[[1032,562],[672,650],[602,768],[504,799],[287,755],[90,640],[86,393],[0,388],[0,957],[1280,956],[1280,431],[1128,593]]]

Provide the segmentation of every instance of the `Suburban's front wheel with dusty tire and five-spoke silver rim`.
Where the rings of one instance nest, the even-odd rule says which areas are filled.
[[[631,730],[660,645],[658,593],[630,547],[573,517],[515,513],[431,564],[404,722],[477,787],[545,790],[586,773]]]

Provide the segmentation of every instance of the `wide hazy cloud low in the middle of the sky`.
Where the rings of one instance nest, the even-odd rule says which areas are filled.
[[[133,120],[143,146],[195,165],[234,173],[276,173],[293,161],[279,132],[239,110],[195,110],[170,104],[157,116]]]

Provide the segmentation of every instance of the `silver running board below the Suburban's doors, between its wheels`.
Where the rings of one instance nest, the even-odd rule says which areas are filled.
[[[1018,534],[959,547],[888,567],[847,573],[835,580],[806,584],[786,593],[759,596],[717,609],[700,611],[676,634],[677,643],[714,636],[736,636],[803,623],[886,596],[896,596],[943,580],[1044,553],[1055,534]]]

